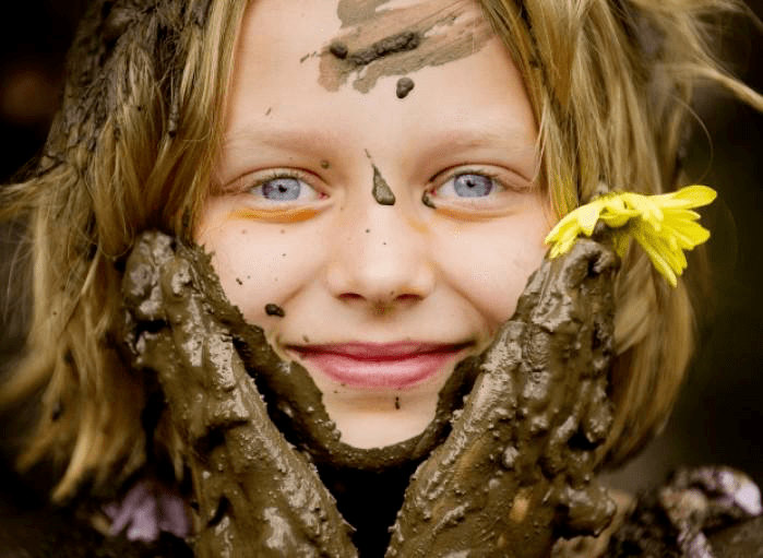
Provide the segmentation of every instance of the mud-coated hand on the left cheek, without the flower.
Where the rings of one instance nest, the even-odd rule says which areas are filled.
[[[271,423],[200,285],[198,252],[146,233],[127,261],[127,344],[156,373],[193,480],[196,556],[350,557],[314,467]]]

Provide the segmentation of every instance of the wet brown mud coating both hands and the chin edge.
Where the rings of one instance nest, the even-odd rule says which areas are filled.
[[[326,485],[391,474],[402,491],[419,463],[402,508],[391,500],[389,557],[541,557],[559,535],[604,529],[613,504],[591,478],[611,420],[616,269],[589,240],[544,262],[493,344],[456,367],[426,431],[360,450],[342,443],[307,371],[227,301],[206,254],[142,237],[124,274],[126,346],[158,377],[184,443],[196,555],[355,556]],[[348,511],[355,524],[374,513],[366,498]],[[385,546],[383,521],[369,555]]]

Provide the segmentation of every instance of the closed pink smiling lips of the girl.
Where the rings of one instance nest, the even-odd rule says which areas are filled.
[[[437,376],[468,345],[343,343],[289,348],[343,385],[403,390]]]

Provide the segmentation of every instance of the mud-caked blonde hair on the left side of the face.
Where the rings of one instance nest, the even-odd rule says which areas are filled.
[[[116,348],[119,262],[157,228],[190,241],[208,183],[245,0],[94,2],[69,58],[63,106],[35,175],[5,188],[28,219],[34,312],[2,401],[43,390],[21,466],[65,465],[53,499],[145,460],[144,379]]]

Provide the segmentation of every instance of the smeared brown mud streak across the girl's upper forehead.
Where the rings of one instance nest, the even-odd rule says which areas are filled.
[[[320,54],[318,82],[329,91],[351,80],[353,87],[368,93],[382,76],[470,56],[492,35],[472,0],[339,0],[336,14],[341,31]],[[388,48],[392,44],[396,47]]]

